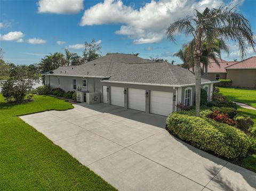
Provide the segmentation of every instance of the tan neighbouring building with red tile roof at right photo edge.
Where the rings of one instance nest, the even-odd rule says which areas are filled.
[[[256,56],[237,62],[227,70],[227,79],[233,81],[233,87],[256,88]]]

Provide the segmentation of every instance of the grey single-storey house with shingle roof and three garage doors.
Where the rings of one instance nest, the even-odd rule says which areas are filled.
[[[51,88],[77,90],[90,103],[169,115],[177,110],[177,103],[191,106],[195,102],[193,72],[130,54],[109,54],[82,65],[60,67],[45,75],[45,82]],[[214,82],[202,77],[202,88],[207,91],[209,101]]]

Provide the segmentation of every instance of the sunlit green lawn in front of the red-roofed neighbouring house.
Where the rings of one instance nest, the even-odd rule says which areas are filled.
[[[225,95],[228,99],[245,103],[256,108],[256,89],[241,89],[241,88],[221,88],[220,93]]]

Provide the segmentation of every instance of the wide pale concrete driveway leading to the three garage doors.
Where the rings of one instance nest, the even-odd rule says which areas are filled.
[[[119,190],[256,190],[256,173],[172,137],[166,117],[74,106],[20,118]]]

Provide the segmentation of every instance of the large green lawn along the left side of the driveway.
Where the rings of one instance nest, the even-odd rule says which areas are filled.
[[[18,115],[68,110],[73,105],[50,96],[23,104],[4,103],[0,94],[1,190],[115,190],[105,180]]]

